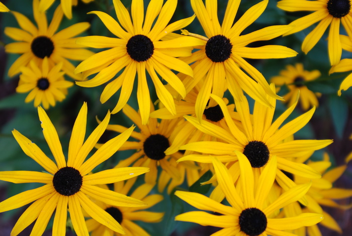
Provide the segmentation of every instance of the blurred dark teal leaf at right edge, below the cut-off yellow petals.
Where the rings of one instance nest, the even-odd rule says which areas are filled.
[[[338,97],[337,95],[331,95],[328,98],[328,107],[330,110],[332,124],[335,128],[336,134],[339,138],[342,138],[348,116],[347,102],[342,97]]]

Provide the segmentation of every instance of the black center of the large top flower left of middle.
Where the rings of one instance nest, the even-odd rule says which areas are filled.
[[[154,52],[153,42],[145,35],[137,34],[127,42],[127,53],[138,62],[148,60]]]

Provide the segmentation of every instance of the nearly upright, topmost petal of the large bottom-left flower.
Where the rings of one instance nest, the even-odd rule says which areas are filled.
[[[70,142],[68,144],[68,160],[67,166],[73,166],[79,149],[83,145],[85,136],[85,127],[87,122],[87,103],[84,102],[79,110],[76,120],[72,128]]]

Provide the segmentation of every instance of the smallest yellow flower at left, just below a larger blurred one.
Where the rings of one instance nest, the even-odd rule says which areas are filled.
[[[65,99],[67,88],[73,86],[72,82],[65,81],[64,72],[61,71],[62,62],[54,67],[49,67],[47,57],[44,57],[40,67],[32,60],[28,67],[21,67],[17,93],[28,93],[25,102],[34,100],[34,106],[43,105],[44,109],[54,107],[56,101]]]

